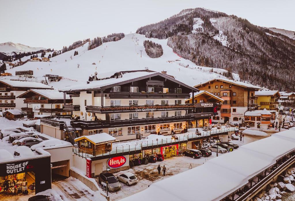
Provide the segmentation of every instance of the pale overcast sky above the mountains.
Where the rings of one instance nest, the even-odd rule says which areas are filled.
[[[86,38],[135,32],[196,7],[234,14],[262,27],[295,31],[294,0],[0,0],[0,5],[0,43],[54,49]]]

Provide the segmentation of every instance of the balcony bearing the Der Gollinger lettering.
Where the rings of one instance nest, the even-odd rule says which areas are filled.
[[[154,105],[154,106],[86,106],[86,112],[93,113],[121,113],[121,112],[145,112],[145,111],[173,111],[173,110],[186,110],[194,109],[194,104],[185,105]]]

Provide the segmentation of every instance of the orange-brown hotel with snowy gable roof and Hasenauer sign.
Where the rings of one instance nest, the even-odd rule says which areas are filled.
[[[210,80],[195,87],[206,90],[224,100],[220,114],[218,114],[222,120],[220,122],[235,121],[240,124],[244,123],[246,111],[258,109],[258,96],[255,96],[255,91],[262,89],[251,84],[221,78]]]

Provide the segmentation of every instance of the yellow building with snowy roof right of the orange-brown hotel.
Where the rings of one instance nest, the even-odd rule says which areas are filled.
[[[255,91],[255,96],[258,96],[257,103],[260,106],[259,109],[263,110],[277,110],[277,100],[280,98],[278,90],[272,91]]]

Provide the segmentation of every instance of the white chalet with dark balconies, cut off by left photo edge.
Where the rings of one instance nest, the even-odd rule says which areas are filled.
[[[50,89],[50,86],[39,82],[0,80],[0,111],[21,110],[26,104],[23,98],[16,97],[30,89]]]

